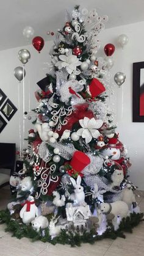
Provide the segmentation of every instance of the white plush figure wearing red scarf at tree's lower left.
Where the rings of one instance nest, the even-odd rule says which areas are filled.
[[[34,197],[29,196],[27,202],[20,211],[20,217],[24,224],[29,224],[38,216],[38,208],[35,205]]]

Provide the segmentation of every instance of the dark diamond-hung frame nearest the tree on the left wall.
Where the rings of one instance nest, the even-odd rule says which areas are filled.
[[[18,109],[16,109],[16,107],[13,105],[13,103],[7,99],[4,103],[4,105],[1,108],[1,112],[4,115],[4,117],[9,121],[13,115],[15,114],[15,112]]]

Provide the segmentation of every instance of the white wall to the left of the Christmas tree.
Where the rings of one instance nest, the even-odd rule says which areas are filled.
[[[5,126],[2,133],[0,133],[0,142],[15,142],[17,150],[20,150],[20,145],[21,148],[26,145],[23,137],[26,138],[29,128],[32,128],[32,120],[25,119],[25,133],[23,136],[23,81],[19,84],[18,80],[13,75],[13,70],[15,67],[23,67],[23,64],[21,64],[20,60],[18,59],[18,51],[20,49],[26,48],[31,53],[31,59],[24,67],[26,70],[26,76],[24,78],[24,111],[29,112],[31,109],[34,109],[37,106],[37,100],[34,96],[34,92],[39,88],[37,86],[37,82],[45,77],[46,70],[43,70],[43,68],[46,67],[44,63],[48,62],[49,60],[49,48],[51,45],[52,42],[46,42],[45,48],[41,50],[40,54],[38,54],[33,46],[23,46],[20,48],[0,51],[0,88],[18,109],[15,115],[13,115],[12,119],[7,122],[7,125]],[[18,103],[18,87],[20,89],[20,106]]]

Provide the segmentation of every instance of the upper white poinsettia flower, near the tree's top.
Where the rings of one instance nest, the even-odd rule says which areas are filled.
[[[65,56],[64,54],[59,56],[59,61],[56,63],[56,67],[59,69],[66,68],[69,74],[76,71],[76,67],[81,65],[81,61],[75,55]]]

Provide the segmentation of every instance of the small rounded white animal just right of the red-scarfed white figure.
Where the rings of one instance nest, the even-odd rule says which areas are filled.
[[[49,222],[48,219],[44,216],[38,216],[34,219],[32,223],[32,228],[36,230],[37,232],[40,231],[40,229],[46,229],[48,227]]]

